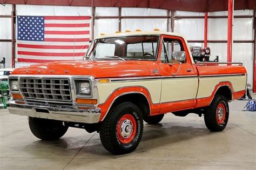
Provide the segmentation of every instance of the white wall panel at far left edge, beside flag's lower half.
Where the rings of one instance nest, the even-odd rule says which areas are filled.
[[[0,42],[0,62],[5,57],[5,67],[11,67],[11,42]],[[3,68],[3,64],[0,64]]]

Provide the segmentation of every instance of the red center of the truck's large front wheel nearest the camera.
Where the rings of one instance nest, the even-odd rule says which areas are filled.
[[[117,137],[123,144],[131,142],[137,132],[136,119],[131,114],[123,115],[117,123]]]

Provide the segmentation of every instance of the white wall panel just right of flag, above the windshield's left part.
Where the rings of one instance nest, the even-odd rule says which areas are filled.
[[[94,36],[97,37],[100,33],[114,33],[118,31],[118,19],[95,19]]]

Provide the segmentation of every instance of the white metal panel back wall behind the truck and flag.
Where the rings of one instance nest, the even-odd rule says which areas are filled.
[[[0,5],[0,15],[11,15],[11,5]],[[167,10],[145,8],[122,8],[121,16],[167,16]],[[92,16],[92,8],[77,6],[43,6],[16,5],[16,15],[39,16]],[[118,8],[96,8],[95,16],[118,16]],[[171,13],[169,13],[171,15]],[[199,12],[176,11],[175,16],[204,16]],[[253,15],[253,10],[234,11],[234,15]],[[227,11],[209,12],[208,16],[227,16]],[[92,21],[92,19],[91,19]],[[167,31],[167,18],[161,19],[121,19],[121,31],[141,29],[151,31],[154,28]],[[92,23],[92,22],[91,22]],[[169,22],[171,24],[171,22]],[[0,18],[0,39],[11,39],[11,18]],[[92,25],[92,24],[91,24]],[[171,25],[170,25],[171,28]],[[100,33],[113,33],[119,29],[119,19],[95,19],[94,36]],[[204,19],[176,19],[174,32],[181,33],[188,40],[204,40]],[[208,40],[227,39],[227,18],[208,19]],[[253,18],[234,18],[234,40],[253,40]],[[202,43],[190,43],[200,45]],[[212,57],[219,56],[220,62],[226,62],[227,43],[208,43]],[[244,63],[248,72],[248,83],[253,82],[253,43],[234,43],[233,62]],[[11,42],[0,42],[0,59],[6,57],[6,66],[11,66]],[[16,63],[16,66],[27,66],[30,63]]]

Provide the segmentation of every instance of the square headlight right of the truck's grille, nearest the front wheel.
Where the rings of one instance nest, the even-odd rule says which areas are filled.
[[[75,79],[76,96],[92,97],[90,80]]]

